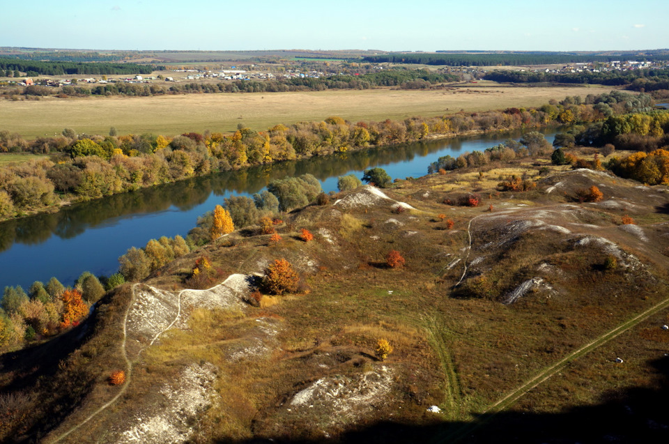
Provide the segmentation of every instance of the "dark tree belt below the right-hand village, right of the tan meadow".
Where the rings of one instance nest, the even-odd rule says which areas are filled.
[[[514,83],[578,83],[602,84],[610,86],[627,85],[634,91],[657,91],[669,89],[669,68],[606,71],[606,72],[531,72],[531,71],[495,71],[486,74],[486,80]]]

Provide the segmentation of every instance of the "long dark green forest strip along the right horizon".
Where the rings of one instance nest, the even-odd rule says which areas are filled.
[[[587,63],[610,62],[616,60],[654,61],[669,60],[669,54],[619,54],[619,55],[592,55],[592,54],[564,54],[564,53],[502,53],[502,54],[383,54],[366,56],[364,61],[370,63],[419,63],[422,65],[448,66],[516,66],[516,65],[545,65],[548,63]]]

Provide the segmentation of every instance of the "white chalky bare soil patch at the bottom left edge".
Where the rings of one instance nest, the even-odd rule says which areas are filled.
[[[134,415],[116,443],[184,443],[193,434],[192,424],[197,423],[199,414],[212,403],[215,378],[216,367],[209,362],[186,367],[178,381],[160,388],[160,411]]]

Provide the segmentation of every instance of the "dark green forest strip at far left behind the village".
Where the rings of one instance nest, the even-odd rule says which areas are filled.
[[[0,70],[20,71],[29,76],[37,75],[73,75],[73,74],[151,74],[164,67],[137,65],[136,63],[82,63],[66,61],[24,61],[20,59],[0,58]]]

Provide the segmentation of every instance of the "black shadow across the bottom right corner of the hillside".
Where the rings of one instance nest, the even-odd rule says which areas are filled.
[[[220,443],[667,443],[669,442],[669,358],[651,362],[659,373],[656,388],[608,392],[601,404],[563,413],[508,411],[481,415],[475,422],[416,427],[385,421],[349,431],[337,439],[271,439]],[[477,427],[481,426],[481,427]]]

